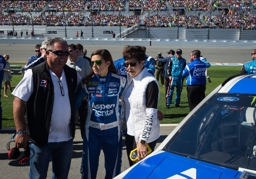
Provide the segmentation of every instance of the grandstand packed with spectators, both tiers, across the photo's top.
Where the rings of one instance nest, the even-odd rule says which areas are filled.
[[[31,25],[33,21],[33,25],[64,26],[66,22],[67,26],[119,26],[121,24],[127,27],[136,23],[146,23],[149,27],[204,28],[210,26],[212,28],[240,28],[241,17],[243,16],[243,29],[252,30],[256,28],[255,4],[256,0],[0,0],[0,10],[2,12],[0,23],[1,25]],[[127,9],[124,8],[125,6]],[[151,14],[148,19],[148,15],[134,15],[133,12],[129,12],[128,7],[134,13],[161,11],[165,14],[158,15],[154,12],[156,15]],[[93,11],[94,13],[90,15],[88,14],[90,12],[85,13],[90,11],[91,8],[96,8]],[[222,8],[223,11],[218,11],[209,20],[210,13],[207,11],[218,8]],[[15,14],[6,13],[12,9],[16,12]],[[186,12],[186,15],[179,16],[179,22],[176,9]],[[45,10],[49,13],[45,14]],[[167,10],[168,12],[166,12]],[[247,13],[242,15],[241,10],[247,10]],[[31,17],[24,13],[30,11],[40,11],[40,14],[33,14]],[[62,11],[65,12],[66,19]],[[119,12],[115,11],[121,11],[120,19],[119,14],[117,14]],[[125,15],[122,15],[122,11],[126,11]],[[204,11],[205,14],[200,16],[200,13],[198,13],[196,15],[198,11]],[[106,12],[106,14],[102,12]],[[107,12],[113,14],[107,14]],[[190,15],[190,12],[193,13]]]

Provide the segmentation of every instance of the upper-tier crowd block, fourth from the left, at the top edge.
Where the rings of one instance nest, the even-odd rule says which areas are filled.
[[[164,0],[130,0],[129,7],[142,7],[143,11],[166,11]]]

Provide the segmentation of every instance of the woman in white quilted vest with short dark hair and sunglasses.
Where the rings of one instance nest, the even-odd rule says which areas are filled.
[[[140,46],[131,46],[124,52],[127,68],[127,83],[122,94],[121,125],[127,126],[126,152],[130,166],[130,152],[138,148],[138,160],[147,157],[147,146],[152,151],[160,137],[160,122],[157,119],[159,84],[144,67],[145,52]]]

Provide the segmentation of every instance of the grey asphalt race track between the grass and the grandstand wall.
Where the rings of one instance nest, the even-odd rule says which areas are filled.
[[[92,52],[97,49],[107,49],[113,58],[117,60],[122,58],[123,46],[114,45],[86,45],[82,44],[87,50],[87,57],[90,57]],[[29,57],[35,55],[35,44],[4,44],[0,43],[0,55],[8,54],[10,56],[9,62],[26,63]],[[222,62],[222,63],[245,63],[252,61],[251,48],[213,48],[213,47],[173,47],[173,46],[146,46],[146,54],[155,58],[158,52],[162,53],[163,57],[167,57],[167,51],[181,49],[182,57],[189,62],[190,53],[193,50],[200,50],[201,55],[206,57],[208,62]],[[256,48],[256,47],[255,47]]]

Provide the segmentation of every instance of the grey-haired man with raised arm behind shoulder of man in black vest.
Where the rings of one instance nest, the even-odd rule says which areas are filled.
[[[41,53],[41,57],[39,58],[30,58],[28,60],[28,63],[27,65],[24,67],[24,73],[31,67],[33,66],[37,66],[39,65],[40,63],[43,63],[44,61],[47,60],[46,58],[46,47],[47,47],[47,44],[49,43],[49,39],[46,39],[42,44],[41,44],[41,48],[40,48],[40,51],[42,52]]]

